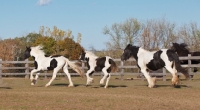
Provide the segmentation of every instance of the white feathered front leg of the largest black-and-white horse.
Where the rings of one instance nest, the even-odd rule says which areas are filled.
[[[149,72],[147,72],[146,69],[141,69],[141,72],[144,74],[145,78],[147,79],[149,85],[149,88],[153,88],[155,86],[155,78],[151,78],[151,76],[149,75]]]

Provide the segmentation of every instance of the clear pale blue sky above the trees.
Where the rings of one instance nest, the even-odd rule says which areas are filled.
[[[0,0],[0,38],[37,32],[40,26],[70,29],[81,45],[106,49],[105,26],[129,18],[162,19],[176,24],[200,24],[200,0]],[[76,40],[76,39],[74,39]]]

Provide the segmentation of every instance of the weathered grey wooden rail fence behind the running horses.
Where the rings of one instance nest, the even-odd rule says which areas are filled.
[[[190,75],[195,75],[195,74],[200,74],[200,72],[196,72],[193,73],[191,67],[200,67],[200,64],[191,64],[191,60],[192,59],[200,59],[200,56],[191,56],[190,54],[187,57],[180,57],[180,60],[188,60],[188,64],[187,65],[182,65],[183,67],[187,67],[188,68],[188,72]],[[120,75],[121,79],[123,79],[124,75],[140,75],[141,78],[144,80],[144,77],[142,75],[142,73],[140,73],[138,67],[136,65],[124,65],[125,62],[122,62],[120,59],[114,59],[115,62],[117,62],[118,67],[119,67],[119,71],[117,73],[112,73],[112,75]],[[129,59],[126,62],[135,62],[135,59]],[[30,71],[32,69],[34,69],[33,66],[30,66],[34,63],[34,61],[2,61],[2,59],[0,59],[0,78],[2,78],[2,76],[20,76],[20,75],[24,75],[26,78],[29,77]],[[22,64],[24,65],[23,67],[6,67],[4,66],[5,64]],[[69,69],[71,69],[69,67]],[[82,63],[82,70],[85,72],[86,71],[86,66],[85,63]],[[127,72],[125,71],[126,69],[138,69],[137,72]],[[3,72],[3,70],[23,70],[23,72]],[[100,75],[101,73],[95,73],[94,75]],[[163,81],[166,80],[166,75],[169,74],[167,73],[166,69],[163,68],[160,72],[151,72],[150,75],[152,76],[162,76]],[[41,73],[40,76],[51,76],[52,73],[47,73],[46,71],[44,73]],[[64,73],[58,73],[57,75],[64,75]],[[78,75],[77,73],[71,73],[71,75]],[[169,74],[171,75],[171,74]],[[178,75],[182,75],[181,73],[178,73]]]

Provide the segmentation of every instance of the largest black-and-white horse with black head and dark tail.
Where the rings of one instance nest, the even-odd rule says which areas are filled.
[[[171,49],[148,51],[142,47],[128,44],[121,55],[121,60],[126,61],[130,57],[134,57],[137,61],[137,66],[147,79],[149,88],[155,87],[156,83],[156,78],[151,77],[149,71],[156,71],[163,67],[172,74],[172,85],[174,87],[179,84],[177,71],[182,72],[186,78],[189,78],[187,70],[180,65],[178,55]]]

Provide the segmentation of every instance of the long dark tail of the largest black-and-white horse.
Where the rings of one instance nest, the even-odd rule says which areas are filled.
[[[178,55],[175,52],[173,52],[172,56],[174,58],[173,64],[175,65],[176,70],[178,72],[181,72],[188,79],[190,77],[188,70],[181,66]]]

